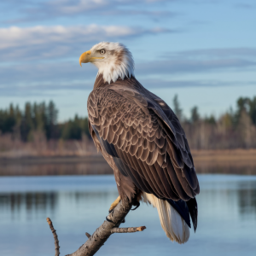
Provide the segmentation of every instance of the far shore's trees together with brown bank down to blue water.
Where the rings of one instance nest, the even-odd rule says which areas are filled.
[[[256,96],[240,97],[236,109],[202,117],[197,107],[173,110],[189,141],[196,172],[256,174]],[[58,122],[54,102],[27,102],[24,110],[0,109],[0,176],[112,174],[91,140],[88,119]]]

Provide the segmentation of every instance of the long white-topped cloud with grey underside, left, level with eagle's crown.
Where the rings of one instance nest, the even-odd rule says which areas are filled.
[[[132,26],[10,26],[0,28],[0,63],[70,58],[101,41],[121,41],[145,34],[172,32]]]

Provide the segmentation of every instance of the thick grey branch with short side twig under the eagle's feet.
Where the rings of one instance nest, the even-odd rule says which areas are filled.
[[[111,220],[111,222],[105,220],[76,252],[67,254],[66,256],[92,256],[104,245],[104,242],[113,233],[130,233],[146,229],[146,227],[119,229],[119,225],[123,222],[130,210],[131,203],[129,201],[119,201],[114,211],[108,214],[108,220]]]

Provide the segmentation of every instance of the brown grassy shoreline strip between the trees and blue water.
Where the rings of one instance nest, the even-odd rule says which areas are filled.
[[[192,150],[197,173],[256,175],[256,149]],[[101,154],[3,157],[0,176],[113,174]]]

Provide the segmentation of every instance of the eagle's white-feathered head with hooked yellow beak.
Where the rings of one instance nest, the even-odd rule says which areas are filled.
[[[98,67],[98,75],[102,74],[108,84],[111,80],[131,78],[134,76],[134,61],[131,52],[124,44],[102,42],[85,51],[79,63],[91,62]]]

